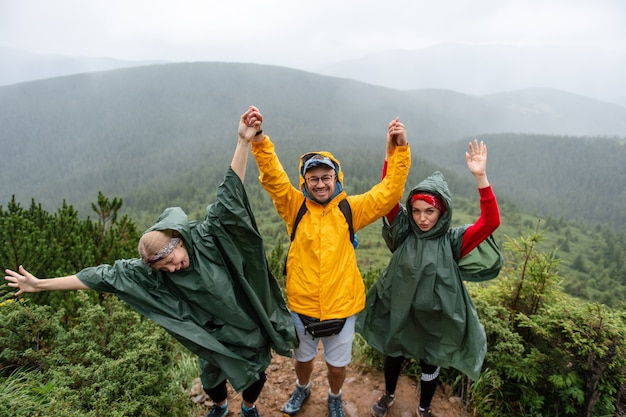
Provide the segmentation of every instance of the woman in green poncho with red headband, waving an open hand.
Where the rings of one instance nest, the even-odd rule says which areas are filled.
[[[406,206],[398,204],[383,219],[383,237],[393,254],[369,290],[356,324],[365,340],[385,355],[385,392],[372,406],[374,417],[384,417],[393,404],[405,358],[420,360],[418,417],[434,416],[430,403],[440,367],[454,367],[473,379],[480,374],[486,337],[459,262],[500,225],[500,213],[487,180],[483,142],[470,142],[466,162],[480,194],[476,223],[450,228],[452,199],[440,172],[413,188]],[[496,261],[501,262],[499,257]]]

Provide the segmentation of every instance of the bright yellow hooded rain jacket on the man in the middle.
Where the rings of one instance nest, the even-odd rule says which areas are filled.
[[[343,184],[339,161],[330,152],[315,152],[330,158],[336,166],[336,187]],[[369,191],[347,196],[341,191],[322,206],[306,198],[304,178],[294,187],[268,136],[252,144],[259,167],[259,180],[274,201],[287,233],[306,199],[307,212],[297,227],[287,254],[287,305],[290,310],[320,320],[346,318],[365,307],[365,285],[357,267],[350,231],[339,202],[347,198],[355,233],[387,214],[402,198],[411,166],[409,146],[398,146],[389,158],[387,175]],[[302,172],[302,158],[300,169]],[[341,188],[339,188],[341,189]]]

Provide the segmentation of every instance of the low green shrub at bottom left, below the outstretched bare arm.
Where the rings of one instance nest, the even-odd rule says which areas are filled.
[[[17,360],[3,362],[2,369],[5,363],[14,369],[24,363],[28,369],[18,376],[3,376],[12,381],[13,389],[11,394],[1,395],[22,401],[0,415],[188,416],[192,405],[175,379],[180,350],[174,339],[114,296],[104,297],[101,305],[93,304],[85,292],[77,292],[77,297],[84,304],[78,309],[76,325],[67,328],[59,321],[62,312],[50,317],[46,307],[15,302],[2,305],[3,324],[9,317],[9,325],[42,329],[48,336],[39,337],[45,350],[28,347],[22,354],[15,352],[32,344],[34,337],[26,337],[28,332],[23,330],[10,338],[9,351],[14,353],[4,356]],[[24,339],[21,344],[20,338]],[[6,404],[3,399],[0,402]]]

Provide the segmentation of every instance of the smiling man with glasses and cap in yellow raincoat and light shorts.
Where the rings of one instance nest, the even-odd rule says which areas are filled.
[[[309,398],[313,360],[321,339],[328,367],[330,416],[344,417],[341,387],[345,368],[352,359],[355,317],[365,306],[365,286],[350,239],[350,225],[340,204],[342,200],[349,203],[352,232],[380,219],[394,207],[402,197],[411,165],[406,130],[397,118],[389,123],[386,177],[366,193],[348,196],[343,190],[339,161],[329,152],[303,155],[299,184],[294,187],[278,160],[273,143],[263,135],[263,116],[259,110],[250,107],[242,117],[257,129],[252,139],[252,154],[259,167],[260,181],[290,235],[303,204],[306,208],[287,254],[287,306],[300,342],[294,349],[296,388],[283,413],[297,414]],[[322,326],[328,323],[326,327],[331,329],[331,334],[312,337],[311,332],[305,330],[308,322],[322,322]],[[339,325],[335,326],[336,323]]]

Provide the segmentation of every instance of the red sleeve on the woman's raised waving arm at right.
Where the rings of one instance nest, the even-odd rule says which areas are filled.
[[[461,258],[487,239],[500,226],[500,210],[491,186],[479,188],[480,216],[467,228],[461,243]]]

